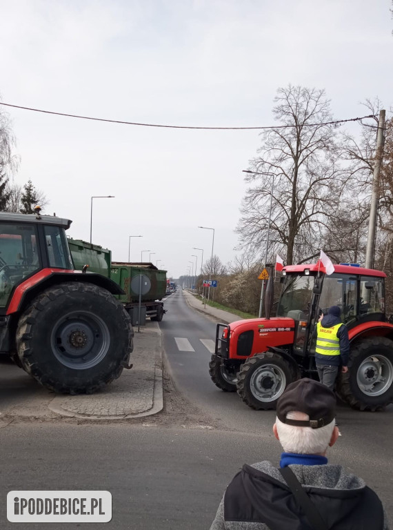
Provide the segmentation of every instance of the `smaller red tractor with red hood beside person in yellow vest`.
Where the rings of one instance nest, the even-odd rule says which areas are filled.
[[[252,409],[274,409],[285,386],[299,377],[318,378],[314,327],[321,313],[340,306],[349,332],[349,371],[336,391],[354,409],[376,411],[393,402],[393,325],[385,315],[385,273],[334,265],[283,268],[276,316],[270,317],[272,275],[266,288],[266,318],[217,324],[210,376],[223,391],[236,391]]]

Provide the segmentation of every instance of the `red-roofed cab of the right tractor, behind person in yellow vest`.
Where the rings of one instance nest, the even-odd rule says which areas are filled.
[[[314,355],[314,326],[330,306],[341,308],[341,322],[348,329],[361,322],[385,322],[385,277],[357,266],[335,265],[329,276],[316,265],[285,267],[276,317],[294,320],[294,353]]]

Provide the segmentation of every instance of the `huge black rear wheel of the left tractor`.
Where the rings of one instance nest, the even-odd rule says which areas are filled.
[[[93,393],[117,379],[132,352],[131,321],[105,289],[69,282],[43,291],[21,316],[19,360],[59,393]]]

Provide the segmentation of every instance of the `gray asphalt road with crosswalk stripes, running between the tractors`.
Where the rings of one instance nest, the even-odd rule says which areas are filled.
[[[110,491],[112,521],[88,528],[208,529],[225,485],[244,462],[278,464],[274,413],[252,411],[236,394],[223,393],[210,381],[208,347],[215,324],[191,310],[181,291],[168,298],[166,307],[161,323],[165,351],[185,400],[169,385],[165,411],[135,422],[3,424],[1,529],[85,526],[8,522],[6,494],[13,489]],[[330,461],[365,478],[392,516],[392,410],[372,414],[342,407],[339,420],[342,436]]]

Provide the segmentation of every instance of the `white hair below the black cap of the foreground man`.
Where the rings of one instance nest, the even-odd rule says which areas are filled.
[[[303,412],[288,412],[288,420],[310,420],[308,414]],[[288,425],[276,418],[277,433],[285,453],[298,453],[308,455],[324,454],[328,449],[330,438],[336,421],[328,425],[312,429],[312,427],[296,427]]]

